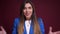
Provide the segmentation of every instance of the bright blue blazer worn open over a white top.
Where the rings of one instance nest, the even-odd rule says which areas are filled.
[[[14,20],[14,25],[13,25],[13,30],[12,30],[12,34],[18,34],[17,32],[17,27],[18,27],[18,24],[20,22],[20,18],[15,18]],[[42,32],[42,34],[45,34],[45,30],[44,30],[44,24],[43,24],[43,21],[41,18],[38,18],[38,23],[39,23],[39,26],[40,26],[40,30]],[[30,34],[34,34],[34,29],[33,29],[33,26],[32,26],[33,23],[31,23],[31,26],[30,26]],[[24,25],[24,34],[26,34],[26,28],[25,28],[25,25]]]

